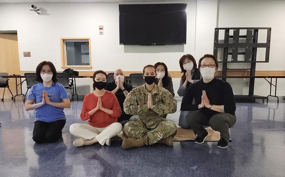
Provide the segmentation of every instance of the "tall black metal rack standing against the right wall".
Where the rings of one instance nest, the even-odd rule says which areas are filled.
[[[219,42],[219,32],[224,30],[223,43]],[[233,35],[230,35],[230,30],[233,31]],[[246,30],[246,35],[240,35],[240,31]],[[258,43],[258,31],[267,30],[266,43]],[[255,99],[266,99],[267,97],[254,95],[254,76],[256,63],[268,63],[269,62],[269,51],[270,51],[270,37],[271,28],[267,27],[242,27],[242,28],[215,28],[214,38],[214,56],[218,59],[218,49],[223,49],[222,54],[222,79],[226,80],[228,70],[250,70],[249,80],[249,92],[248,95],[235,95],[236,99],[246,99],[255,101]],[[243,40],[245,42],[240,42]],[[243,48],[243,52],[239,52],[239,49]],[[256,60],[257,48],[266,48],[265,59]],[[229,51],[229,49],[231,49]],[[231,59],[228,60],[228,55],[231,55]],[[244,55],[244,60],[238,60],[238,55]],[[218,59],[219,60],[219,59]],[[241,69],[230,69],[228,63],[251,63],[250,68]]]

